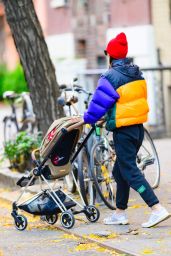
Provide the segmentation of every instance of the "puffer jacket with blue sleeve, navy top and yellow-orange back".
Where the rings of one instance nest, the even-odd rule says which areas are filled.
[[[99,79],[84,121],[94,124],[107,113],[106,128],[112,131],[146,122],[148,111],[146,82],[139,67],[125,58],[114,60]]]

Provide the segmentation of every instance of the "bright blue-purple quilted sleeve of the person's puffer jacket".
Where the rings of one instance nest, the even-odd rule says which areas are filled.
[[[119,94],[109,81],[101,76],[88,110],[84,113],[84,122],[89,124],[96,123],[119,99]]]

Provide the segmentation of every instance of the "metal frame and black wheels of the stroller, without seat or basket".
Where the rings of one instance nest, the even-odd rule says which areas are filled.
[[[72,126],[70,126],[69,128],[62,128],[61,132],[62,134],[68,133],[69,131],[78,128],[79,126],[83,125],[83,121],[74,124]],[[86,142],[88,141],[89,137],[91,136],[91,134],[93,133],[93,131],[95,130],[95,126],[92,126],[92,129],[89,131],[89,133],[87,134],[87,136],[84,138],[84,140],[82,141],[82,143],[79,145],[77,151],[74,153],[72,159],[70,159],[70,163],[72,164],[74,162],[74,160],[77,158],[79,152],[81,151],[81,149],[83,148],[83,146],[86,144]],[[56,145],[56,144],[55,144]],[[65,206],[65,204],[62,202],[62,200],[59,198],[59,196],[57,195],[57,193],[55,193],[55,185],[56,182],[54,183],[54,185],[50,185],[48,183],[48,180],[44,177],[43,174],[43,167],[45,165],[45,163],[47,162],[47,160],[49,159],[55,145],[53,146],[53,148],[50,150],[50,152],[48,153],[48,155],[42,160],[42,162],[36,160],[34,153],[32,152],[32,159],[34,164],[36,165],[36,167],[33,169],[32,171],[32,176],[30,177],[28,183],[26,184],[26,186],[24,187],[23,191],[21,192],[21,194],[19,195],[18,199],[13,202],[12,205],[12,217],[14,218],[14,223],[15,226],[18,230],[22,231],[24,229],[26,229],[27,227],[27,219],[25,216],[23,215],[19,215],[18,214],[18,209],[20,209],[20,207],[22,206],[22,204],[29,202],[30,200],[33,200],[34,198],[36,199],[36,197],[38,197],[39,195],[42,194],[42,192],[46,192],[51,199],[54,201],[54,203],[59,207],[60,212],[61,212],[61,224],[64,228],[70,229],[73,227],[74,223],[75,223],[75,218],[74,215],[79,214],[79,213],[84,213],[86,218],[90,221],[90,222],[96,222],[99,217],[100,217],[100,212],[99,210],[94,206],[94,205],[86,205],[83,197],[81,195],[81,191],[80,188],[77,184],[76,178],[72,172],[72,176],[73,176],[73,180],[75,182],[75,185],[77,187],[78,193],[80,195],[82,204],[80,204],[79,202],[77,202],[75,199],[73,199],[70,195],[68,195],[67,193],[65,193],[61,187],[58,188],[58,191],[61,191],[66,198],[70,199],[70,202],[73,202],[74,205],[73,206],[79,206],[81,208],[80,211],[76,211],[73,210],[72,207],[67,207]],[[32,182],[39,178],[39,183],[40,183],[40,188],[41,188],[41,192],[35,194],[33,197],[31,197],[30,199],[27,199],[24,202],[19,203],[20,199],[22,198],[22,196],[24,195],[24,193],[27,191],[28,187],[32,184]],[[43,189],[42,187],[42,181],[45,182],[45,184],[48,186],[48,189]],[[56,188],[57,189],[57,188]],[[22,209],[22,208],[21,208]],[[34,213],[32,213],[34,214]],[[57,213],[53,213],[53,214],[48,214],[48,215],[41,215],[41,213],[39,214],[41,216],[41,220],[46,221],[47,223],[53,225],[56,223],[57,219],[58,219],[58,215]]]

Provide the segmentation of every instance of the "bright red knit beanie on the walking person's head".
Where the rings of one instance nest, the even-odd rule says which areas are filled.
[[[123,59],[128,53],[128,42],[125,33],[118,34],[109,41],[106,52],[114,59]]]

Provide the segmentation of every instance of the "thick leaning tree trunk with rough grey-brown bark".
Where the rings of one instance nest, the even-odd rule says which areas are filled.
[[[57,106],[59,88],[32,0],[2,0],[28,82],[40,130],[45,133],[63,114]],[[12,56],[11,56],[12,58]]]

